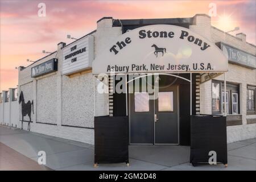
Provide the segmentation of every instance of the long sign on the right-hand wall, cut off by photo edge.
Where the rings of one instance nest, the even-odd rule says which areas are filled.
[[[251,69],[256,69],[256,57],[254,55],[250,55],[249,53],[240,51],[222,42],[218,44],[220,44],[222,52],[228,57],[230,63],[239,64],[243,67]]]

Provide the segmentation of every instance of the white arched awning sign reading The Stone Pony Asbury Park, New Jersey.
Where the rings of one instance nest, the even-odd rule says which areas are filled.
[[[93,74],[226,71],[228,60],[220,48],[188,28],[172,25],[126,32],[93,61]]]

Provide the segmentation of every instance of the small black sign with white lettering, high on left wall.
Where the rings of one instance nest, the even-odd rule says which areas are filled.
[[[53,58],[48,60],[42,64],[36,65],[31,68],[31,77],[38,77],[42,75],[46,75],[51,72],[57,71],[58,62],[57,59]]]

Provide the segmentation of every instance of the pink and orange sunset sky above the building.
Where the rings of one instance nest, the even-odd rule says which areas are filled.
[[[38,4],[46,4],[46,17],[38,16]],[[224,31],[239,26],[247,42],[255,44],[255,2],[241,1],[83,1],[83,0],[1,0],[0,1],[0,90],[15,88],[20,65],[46,56],[42,50],[56,51],[57,43],[70,43],[96,29],[104,16],[115,19],[187,18],[209,14],[216,3],[213,26]],[[0,91],[1,92],[1,91]]]

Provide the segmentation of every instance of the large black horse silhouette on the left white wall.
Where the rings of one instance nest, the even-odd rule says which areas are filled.
[[[23,118],[24,118],[24,116],[28,115],[28,117],[30,118],[30,121],[28,121],[27,130],[30,131],[31,107],[32,107],[32,111],[34,114],[34,102],[32,100],[32,102],[27,101],[27,103],[25,103],[23,92],[20,92],[19,104],[20,104],[20,102],[22,103],[22,129],[23,129],[23,121],[24,121]]]

